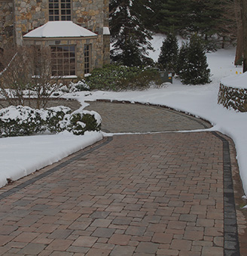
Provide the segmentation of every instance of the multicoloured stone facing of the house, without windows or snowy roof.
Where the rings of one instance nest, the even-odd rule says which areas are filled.
[[[0,0],[0,11],[4,13],[4,18],[0,18],[0,24],[2,25],[0,26],[0,36],[2,36],[2,39],[0,37],[0,42],[2,45],[6,45],[8,40],[12,40],[13,42],[15,37],[17,45],[23,45],[23,35],[32,29],[44,25],[44,23],[47,23],[49,20],[48,0],[6,1],[7,2]],[[13,8],[15,26],[13,26],[13,17],[11,17]],[[84,26],[86,29],[90,29],[98,36],[96,39],[87,39],[86,41],[85,39],[82,39],[81,43],[78,43],[79,39],[75,40],[75,42],[72,42],[69,39],[65,41],[72,44],[75,43],[75,45],[81,45],[85,42],[92,44],[93,67],[102,67],[103,64],[110,63],[109,35],[103,35],[103,26],[108,26],[108,11],[108,0],[72,0],[72,21],[80,26]],[[3,20],[6,20],[4,24],[2,24]],[[14,29],[14,32],[13,29],[11,29],[11,26]],[[50,43],[52,42],[45,41],[44,43],[41,43],[41,45]],[[30,41],[28,44],[30,44]],[[35,44],[38,43],[35,42]],[[62,44],[63,41],[61,42],[61,45]],[[79,46],[78,51],[82,51],[81,48],[84,47]]]

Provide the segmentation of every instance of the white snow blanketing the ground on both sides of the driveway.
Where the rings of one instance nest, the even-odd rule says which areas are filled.
[[[155,38],[155,40],[154,48],[158,49],[157,45],[161,44],[162,39]],[[157,58],[158,52],[151,53],[154,59]],[[241,67],[233,65],[234,55],[234,49],[219,50],[208,54],[209,68],[212,71],[212,83],[209,85],[186,86],[182,85],[178,79],[174,79],[172,85],[166,84],[163,88],[150,88],[146,91],[87,91],[66,94],[64,97],[75,98],[81,103],[84,103],[84,100],[109,99],[162,104],[209,120],[214,125],[211,130],[221,131],[235,142],[240,175],[246,193],[247,113],[236,113],[234,110],[224,109],[217,103],[220,80],[230,75],[239,76],[242,72]],[[237,75],[236,72],[238,72]],[[0,139],[0,186],[6,184],[7,178],[16,180],[101,138],[100,133],[90,133],[84,136],[63,133],[2,138]]]

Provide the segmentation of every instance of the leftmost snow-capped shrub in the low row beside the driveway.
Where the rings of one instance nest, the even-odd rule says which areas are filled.
[[[0,110],[2,137],[31,135],[45,130],[43,113],[29,106],[8,106]]]

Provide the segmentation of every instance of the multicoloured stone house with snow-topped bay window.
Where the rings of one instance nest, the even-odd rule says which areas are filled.
[[[49,46],[54,76],[83,77],[110,63],[108,0],[0,0],[0,50]]]

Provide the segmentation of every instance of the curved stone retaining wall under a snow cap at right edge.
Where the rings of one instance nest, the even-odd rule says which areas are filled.
[[[247,89],[233,88],[220,84],[218,104],[222,104],[227,109],[247,112]]]

